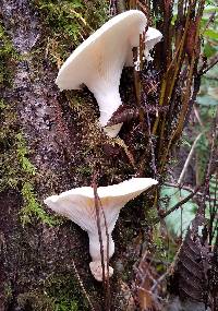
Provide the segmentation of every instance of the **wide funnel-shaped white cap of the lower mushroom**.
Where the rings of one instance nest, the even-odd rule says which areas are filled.
[[[132,178],[118,184],[97,189],[106,215],[108,230],[112,231],[120,210],[157,181],[152,178]],[[81,187],[52,195],[44,201],[55,212],[70,218],[87,232],[96,231],[96,208],[94,189]],[[104,217],[100,219],[102,227]]]

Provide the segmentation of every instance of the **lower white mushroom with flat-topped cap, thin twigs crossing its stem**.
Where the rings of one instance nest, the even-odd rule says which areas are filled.
[[[120,210],[130,200],[156,183],[157,181],[152,178],[132,178],[118,184],[99,187],[97,189],[100,206],[102,206],[102,208],[99,210],[99,225],[102,238],[105,266],[107,263],[107,234],[104,214],[109,236],[109,258],[111,258],[114,252],[114,242],[111,234]],[[101,282],[102,267],[94,189],[92,187],[75,188],[60,195],[49,196],[45,200],[45,203],[51,210],[70,218],[83,230],[87,231],[89,237],[89,253],[93,260],[89,267],[94,277]],[[109,267],[109,277],[112,273],[112,267]]]

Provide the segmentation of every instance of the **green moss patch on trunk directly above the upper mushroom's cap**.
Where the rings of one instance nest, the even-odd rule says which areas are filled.
[[[107,1],[33,0],[47,26],[47,55],[58,67],[108,19]]]

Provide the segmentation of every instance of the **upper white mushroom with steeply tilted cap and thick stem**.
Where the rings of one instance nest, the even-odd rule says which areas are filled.
[[[56,83],[61,91],[78,89],[85,84],[93,92],[101,127],[107,125],[122,104],[119,93],[122,69],[125,64],[132,65],[132,48],[138,47],[140,34],[146,25],[146,16],[137,10],[112,17],[73,51],[58,73]],[[149,49],[154,45],[149,45]],[[121,127],[122,123],[106,127],[105,131],[114,137]]]

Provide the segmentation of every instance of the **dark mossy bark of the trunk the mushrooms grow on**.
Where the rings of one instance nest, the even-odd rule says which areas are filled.
[[[87,235],[66,220],[50,226],[52,218],[43,199],[90,184],[96,167],[100,167],[99,184],[122,181],[135,168],[126,149],[114,147],[95,127],[98,111],[92,94],[62,95],[55,85],[58,69],[50,56],[57,51],[49,46],[47,32],[51,29],[45,27],[39,4],[41,1],[1,1],[3,27],[14,53],[10,51],[3,69],[11,80],[1,84],[7,108],[2,106],[1,115],[5,133],[1,142],[0,310],[89,310],[72,259],[96,310],[101,310],[102,286],[88,270]],[[126,73],[124,80],[130,75]],[[123,94],[123,99],[134,100],[130,94]],[[24,191],[27,186],[28,191]],[[135,202],[134,212],[121,213],[116,228],[113,264],[119,264],[111,279],[113,310],[121,310],[120,280],[130,278],[138,258],[134,237],[145,216],[140,203]]]

